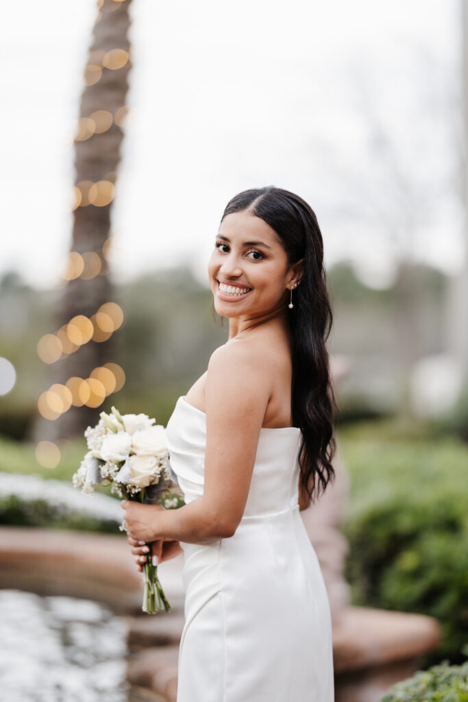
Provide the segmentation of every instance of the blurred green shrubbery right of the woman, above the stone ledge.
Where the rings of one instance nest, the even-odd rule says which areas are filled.
[[[441,647],[423,665],[460,663],[468,640],[468,446],[428,425],[342,428],[350,474],[345,524],[354,604],[429,614]]]

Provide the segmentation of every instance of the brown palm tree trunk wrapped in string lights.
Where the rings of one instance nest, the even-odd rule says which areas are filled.
[[[92,275],[86,271],[85,265],[81,277],[69,279],[55,311],[55,331],[77,314],[91,318],[100,305],[114,300],[102,247],[110,234],[113,184],[123,139],[121,124],[126,113],[128,73],[131,70],[127,36],[131,24],[131,1],[98,1],[100,11],[93,28],[74,141],[75,192],[79,204],[74,209],[70,251],[98,254],[101,268],[98,274]],[[83,258],[86,262],[86,256]],[[92,258],[93,255],[88,254],[88,263]],[[96,367],[115,362],[114,352],[114,336],[103,342],[89,340],[75,352],[62,355],[51,366],[47,388],[51,383],[65,384],[72,376],[88,378]],[[41,418],[34,436],[36,439],[56,440],[81,434],[88,424],[98,421],[102,409],[102,406],[72,405],[55,420]]]

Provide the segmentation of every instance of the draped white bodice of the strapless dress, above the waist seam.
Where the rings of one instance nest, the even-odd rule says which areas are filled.
[[[302,432],[298,427],[260,429],[243,517],[283,512],[297,505]],[[203,495],[206,415],[181,395],[166,427],[171,466],[186,503]]]

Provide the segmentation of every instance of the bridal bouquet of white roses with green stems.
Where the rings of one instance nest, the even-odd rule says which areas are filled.
[[[75,487],[93,492],[96,484],[111,485],[111,492],[127,500],[159,503],[165,509],[184,504],[171,469],[162,425],[146,414],[124,414],[112,407],[112,414],[100,413],[95,427],[86,428],[88,444],[79,469],[72,478]],[[125,527],[119,527],[125,531]],[[151,552],[151,550],[150,550]],[[145,592],[142,610],[155,614],[169,611],[166,595],[157,575],[157,566],[147,557],[143,566]]]

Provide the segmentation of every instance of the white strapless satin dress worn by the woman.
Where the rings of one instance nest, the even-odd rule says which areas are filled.
[[[203,495],[206,416],[185,395],[166,437],[189,503]],[[181,543],[178,702],[333,702],[328,597],[297,505],[300,437],[262,428],[234,536]]]

